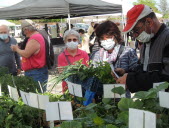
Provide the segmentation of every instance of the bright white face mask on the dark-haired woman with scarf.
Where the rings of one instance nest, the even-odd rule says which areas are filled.
[[[113,39],[101,40],[101,46],[106,50],[111,50],[115,46],[115,41]]]

